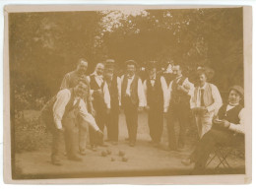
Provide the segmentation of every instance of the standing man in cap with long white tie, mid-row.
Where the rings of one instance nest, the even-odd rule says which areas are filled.
[[[138,111],[145,107],[145,95],[141,79],[136,74],[137,63],[134,60],[125,62],[126,74],[121,77],[121,104],[124,109],[128,141],[135,146],[138,129]]]

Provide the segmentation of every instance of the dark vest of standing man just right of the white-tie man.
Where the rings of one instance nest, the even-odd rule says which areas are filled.
[[[154,86],[152,86],[150,78],[146,80],[147,102],[150,107],[163,107],[163,93],[161,89],[160,77],[160,75],[157,75]]]

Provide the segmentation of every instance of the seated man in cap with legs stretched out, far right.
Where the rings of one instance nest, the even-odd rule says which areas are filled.
[[[182,163],[189,165],[195,162],[193,174],[203,172],[206,162],[216,145],[232,145],[244,141],[244,108],[242,106],[243,89],[233,86],[229,89],[227,104],[220,108],[217,117],[213,120],[213,127],[198,143],[195,151]]]

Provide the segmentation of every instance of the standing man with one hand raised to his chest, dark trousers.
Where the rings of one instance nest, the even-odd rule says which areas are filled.
[[[167,115],[168,130],[168,148],[166,150],[175,151],[183,149],[185,144],[185,133],[189,122],[190,96],[193,93],[194,86],[188,81],[188,78],[182,75],[182,67],[180,64],[173,65],[172,80],[168,87],[168,101],[165,109]],[[179,124],[179,135],[176,136],[175,122]]]

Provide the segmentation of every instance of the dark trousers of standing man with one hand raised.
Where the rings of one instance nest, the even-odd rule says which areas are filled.
[[[179,103],[171,103],[169,107],[167,117],[168,145],[169,149],[176,150],[177,144],[179,147],[183,147],[185,144],[185,134],[189,124],[189,102],[181,100]],[[175,121],[179,123],[178,136],[174,128]]]

